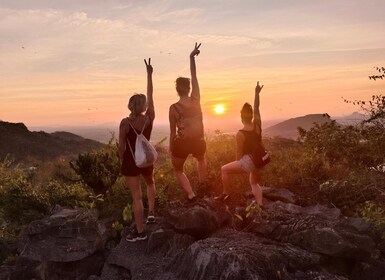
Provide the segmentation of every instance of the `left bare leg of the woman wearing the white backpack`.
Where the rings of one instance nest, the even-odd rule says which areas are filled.
[[[136,229],[141,233],[143,231],[143,202],[139,176],[124,176],[124,179],[132,193]]]

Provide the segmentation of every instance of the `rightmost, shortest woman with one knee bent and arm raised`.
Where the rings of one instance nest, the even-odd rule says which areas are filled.
[[[255,197],[255,202],[262,206],[262,189],[259,182],[258,169],[255,167],[252,157],[253,146],[256,142],[262,141],[261,114],[259,112],[259,94],[263,86],[257,83],[254,96],[254,113],[249,103],[245,103],[241,110],[241,120],[243,128],[236,135],[237,149],[236,160],[225,164],[221,168],[223,192],[215,199],[225,201],[229,197],[231,186],[231,175],[248,173],[251,191]]]

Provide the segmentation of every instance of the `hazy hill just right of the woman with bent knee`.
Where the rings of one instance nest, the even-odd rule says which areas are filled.
[[[297,139],[299,136],[298,127],[308,130],[312,128],[315,123],[323,124],[330,121],[331,119],[327,114],[311,114],[292,118],[270,126],[263,130],[263,134],[264,136],[281,136],[289,139]]]

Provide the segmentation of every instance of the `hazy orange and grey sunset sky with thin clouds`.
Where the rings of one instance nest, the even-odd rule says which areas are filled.
[[[0,0],[0,119],[118,123],[151,57],[166,123],[195,42],[208,122],[238,120],[258,80],[264,119],[350,114],[341,97],[384,93],[368,79],[385,66],[384,11],[383,0]]]

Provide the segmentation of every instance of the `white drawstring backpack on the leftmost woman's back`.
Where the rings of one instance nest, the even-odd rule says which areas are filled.
[[[146,127],[146,124],[147,124],[147,118],[140,134],[136,132],[135,128],[132,126],[130,122],[128,123],[130,124],[131,128],[134,130],[136,134],[135,154],[132,151],[130,141],[127,141],[128,146],[130,147],[130,150],[131,150],[131,154],[135,160],[136,166],[143,168],[143,167],[148,167],[153,165],[156,159],[158,158],[158,153],[156,152],[155,148],[151,145],[151,143],[143,135],[144,128]]]

